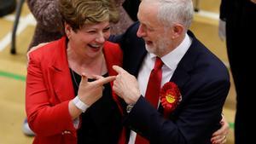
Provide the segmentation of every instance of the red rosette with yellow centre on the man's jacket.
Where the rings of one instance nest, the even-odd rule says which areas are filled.
[[[160,102],[166,112],[172,112],[181,101],[181,94],[177,84],[168,82],[160,89]]]

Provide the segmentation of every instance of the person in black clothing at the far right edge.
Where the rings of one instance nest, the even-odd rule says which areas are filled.
[[[226,40],[230,69],[236,87],[235,143],[254,141],[253,95],[256,0],[222,0],[219,37]]]

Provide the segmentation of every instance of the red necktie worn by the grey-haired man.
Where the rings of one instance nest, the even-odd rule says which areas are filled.
[[[160,96],[160,87],[162,80],[162,66],[163,61],[156,57],[154,62],[154,69],[151,71],[148,86],[145,94],[146,100],[148,100],[153,107],[157,109],[159,96]],[[141,135],[136,136],[135,144],[148,144],[149,141],[144,139]]]

